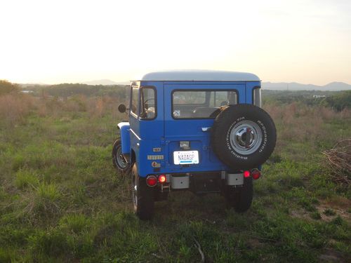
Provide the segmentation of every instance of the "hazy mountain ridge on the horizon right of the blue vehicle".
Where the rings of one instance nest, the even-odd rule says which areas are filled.
[[[324,86],[296,82],[263,82],[262,88],[265,88],[266,90],[351,90],[351,85],[343,82],[331,82]]]

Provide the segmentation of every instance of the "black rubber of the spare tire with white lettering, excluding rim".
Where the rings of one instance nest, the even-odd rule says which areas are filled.
[[[237,123],[252,121],[262,133],[262,142],[251,154],[240,154],[230,144],[230,132]],[[277,130],[267,112],[252,104],[231,105],[220,112],[211,129],[211,146],[220,161],[233,170],[256,168],[267,161],[277,141]]]

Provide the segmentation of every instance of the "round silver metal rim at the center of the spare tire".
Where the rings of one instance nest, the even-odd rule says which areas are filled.
[[[249,155],[262,143],[262,131],[253,121],[240,121],[230,131],[230,145],[238,154]]]

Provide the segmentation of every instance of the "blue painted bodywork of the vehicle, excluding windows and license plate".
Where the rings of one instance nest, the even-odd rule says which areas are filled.
[[[174,119],[172,93],[174,90],[236,90],[239,103],[251,104],[252,90],[260,86],[260,81],[138,81],[136,84],[139,88],[153,86],[157,91],[156,119],[143,120],[129,112],[129,126],[121,126],[122,151],[135,153],[141,177],[161,173],[230,170],[211,150],[211,130],[202,130],[211,127],[213,119]],[[140,112],[140,105],[137,112]],[[180,166],[173,163],[173,151],[184,150],[180,148],[180,141],[189,141],[190,149],[199,151],[199,164]],[[154,148],[161,148],[161,151],[154,152]],[[163,159],[147,160],[147,156],[153,155],[163,156]],[[157,173],[152,167],[154,161],[161,165]]]

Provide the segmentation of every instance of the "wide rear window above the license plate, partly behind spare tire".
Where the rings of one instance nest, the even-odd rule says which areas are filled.
[[[221,106],[237,100],[236,90],[175,90],[172,114],[174,119],[214,119]]]

